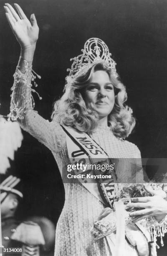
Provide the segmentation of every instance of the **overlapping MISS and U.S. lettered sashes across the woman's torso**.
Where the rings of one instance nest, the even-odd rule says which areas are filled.
[[[66,133],[66,145],[71,164],[84,164],[86,168],[84,172],[81,169],[73,170],[76,175],[86,174],[85,177],[77,177],[78,181],[103,204],[113,208],[114,200],[118,196],[117,186],[114,184],[116,183],[114,167],[113,169],[106,170],[105,173],[94,168],[89,168],[90,165],[97,164],[113,166],[111,159],[109,159],[105,151],[87,133],[79,132],[69,126],[61,125],[61,127]],[[111,179],[91,178],[91,175],[98,175],[99,173],[104,176],[110,175]],[[87,174],[90,174],[89,177],[87,177]]]

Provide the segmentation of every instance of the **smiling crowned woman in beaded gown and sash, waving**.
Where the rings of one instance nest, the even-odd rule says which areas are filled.
[[[15,8],[17,12],[10,4],[5,4],[6,17],[21,46],[8,118],[19,120],[25,131],[52,151],[62,177],[67,176],[69,164],[89,166],[97,164],[98,159],[109,166],[113,166],[113,159],[126,159],[127,164],[124,172],[120,168],[115,168],[115,172],[109,169],[109,180],[91,179],[85,175],[83,179],[64,181],[66,199],[56,227],[55,255],[156,255],[151,228],[162,228],[166,219],[163,223],[152,219],[147,230],[144,227],[147,220],[134,224],[124,210],[127,201],[124,188],[144,180],[140,160],[134,165],[134,161],[141,158],[140,151],[124,140],[132,132],[135,119],[132,109],[125,104],[126,89],[119,80],[108,47],[99,38],[86,41],[83,53],[73,59],[68,69],[65,92],[55,103],[52,122],[49,122],[33,110],[31,95],[35,91],[32,61],[39,28],[34,14],[29,21],[18,4]],[[71,171],[71,174],[78,173],[83,170]],[[96,169],[89,168],[85,173],[98,174]],[[123,180],[132,184],[122,186],[119,182]],[[140,195],[149,195],[143,186],[138,190]],[[166,194],[161,190],[157,197],[164,202]],[[165,214],[161,213],[161,218]]]

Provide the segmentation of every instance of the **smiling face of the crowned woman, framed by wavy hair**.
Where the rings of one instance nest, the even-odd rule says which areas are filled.
[[[100,119],[111,113],[115,102],[114,86],[105,71],[98,70],[92,74],[85,88],[84,100],[88,108],[97,111]]]

